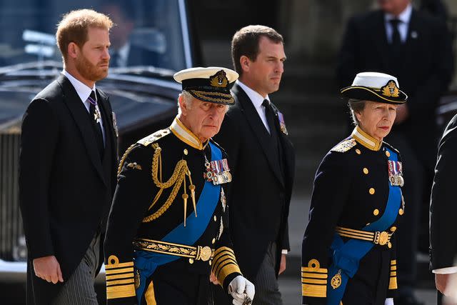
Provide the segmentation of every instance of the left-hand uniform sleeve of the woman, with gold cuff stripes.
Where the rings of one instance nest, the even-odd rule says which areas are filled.
[[[328,251],[351,185],[348,152],[331,151],[314,179],[309,222],[301,246],[303,304],[326,304]]]

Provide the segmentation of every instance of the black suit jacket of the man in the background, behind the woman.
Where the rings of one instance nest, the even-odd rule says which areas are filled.
[[[356,74],[363,71],[397,77],[401,90],[408,94],[409,118],[393,132],[404,132],[419,159],[428,169],[433,169],[438,138],[434,112],[453,73],[446,24],[413,9],[401,64],[396,66],[387,41],[383,11],[353,17],[348,21],[338,58],[340,86],[350,86]]]

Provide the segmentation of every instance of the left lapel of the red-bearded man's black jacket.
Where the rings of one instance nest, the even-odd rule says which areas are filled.
[[[81,131],[81,137],[86,146],[89,159],[91,159],[97,173],[99,173],[101,181],[107,185],[101,168],[101,160],[95,141],[94,130],[89,121],[87,110],[84,107],[84,104],[81,102],[81,99],[79,99],[79,96],[76,93],[74,86],[71,85],[69,79],[67,79],[64,75],[61,75],[57,79],[57,82],[60,84],[64,93],[64,103],[70,109],[71,115],[73,116],[79,131]]]

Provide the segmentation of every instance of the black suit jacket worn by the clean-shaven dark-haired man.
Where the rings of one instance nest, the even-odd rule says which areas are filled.
[[[251,100],[237,84],[232,91],[236,103],[226,114],[215,139],[226,149],[233,175],[227,192],[233,249],[241,272],[254,281],[269,242],[276,241],[277,259],[281,249],[289,249],[287,218],[295,154],[291,141],[279,128],[276,107],[282,167],[268,150],[270,135]]]

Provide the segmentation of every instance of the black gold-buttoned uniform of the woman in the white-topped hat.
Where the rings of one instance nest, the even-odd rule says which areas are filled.
[[[327,304],[328,274],[333,261],[330,247],[338,228],[362,230],[378,220],[386,209],[389,193],[389,152],[396,151],[354,129],[353,134],[323,158],[314,180],[309,223],[302,244],[303,304]],[[399,154],[398,154],[398,161]],[[403,214],[404,204],[398,215]],[[343,304],[384,304],[396,287],[396,221],[386,230],[388,243],[375,244],[348,279]],[[346,230],[347,231],[347,230]],[[341,236],[346,243],[350,238]],[[366,241],[370,242],[370,241]]]

